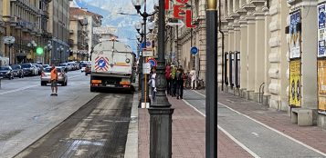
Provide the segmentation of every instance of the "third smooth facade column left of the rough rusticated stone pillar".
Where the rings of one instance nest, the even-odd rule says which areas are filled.
[[[241,96],[246,96],[247,90],[247,11],[243,8],[237,10],[240,15],[239,25],[241,32],[240,39],[240,91]]]

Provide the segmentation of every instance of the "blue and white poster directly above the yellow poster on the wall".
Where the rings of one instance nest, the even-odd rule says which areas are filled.
[[[300,11],[289,15],[289,59],[301,57]]]

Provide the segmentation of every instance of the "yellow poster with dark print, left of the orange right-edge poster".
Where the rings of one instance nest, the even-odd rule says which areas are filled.
[[[289,61],[289,105],[301,106],[301,63]]]

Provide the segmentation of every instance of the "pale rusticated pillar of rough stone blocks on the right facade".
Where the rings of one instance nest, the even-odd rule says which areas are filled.
[[[269,107],[285,111],[288,110],[289,102],[286,90],[286,87],[289,85],[289,79],[287,78],[289,44],[287,44],[286,34],[284,34],[286,26],[289,25],[289,7],[287,2],[283,0],[271,1],[269,14]]]

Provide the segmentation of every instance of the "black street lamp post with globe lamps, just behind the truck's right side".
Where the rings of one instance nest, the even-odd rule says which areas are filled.
[[[146,23],[147,23],[147,18],[149,16],[154,15],[155,13],[148,14],[146,12],[146,0],[131,0],[131,2],[132,2],[132,5],[134,5],[135,9],[137,10],[137,13],[142,16],[142,20],[143,20],[143,32],[144,33],[141,34],[141,35],[143,37],[143,43],[146,45]],[[144,5],[143,13],[141,13],[142,5]],[[141,28],[142,28],[142,23],[136,24],[135,27],[136,27],[137,31],[139,32],[141,30]],[[139,67],[139,69],[141,70],[141,72],[142,72],[142,64],[143,64],[143,62],[144,62],[143,56],[140,56],[140,67]],[[140,104],[142,104],[142,103],[144,103],[144,104],[150,103],[150,99],[147,99],[147,100],[145,99],[145,92],[144,92],[144,90],[145,90],[145,86],[147,86],[147,85],[145,85],[145,77],[144,77],[144,74],[143,73],[140,73],[140,78],[139,79],[140,79],[140,81],[142,81],[142,85],[141,85],[141,87],[142,87],[142,98],[141,98]],[[146,88],[146,89],[148,89],[148,88]],[[149,94],[146,93],[146,98],[149,98],[148,95]]]

